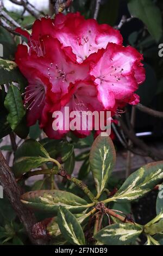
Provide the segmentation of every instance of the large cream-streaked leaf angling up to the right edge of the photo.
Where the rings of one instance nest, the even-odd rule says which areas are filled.
[[[131,174],[112,198],[116,202],[136,200],[152,190],[163,179],[163,161],[148,163]]]

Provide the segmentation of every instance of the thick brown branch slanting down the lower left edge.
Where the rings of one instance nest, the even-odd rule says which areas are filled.
[[[25,208],[25,206],[21,203],[21,189],[17,185],[14,175],[12,174],[4,156],[0,151],[0,184],[2,185],[5,194],[10,200],[10,203],[20,221],[23,223],[26,228],[29,239],[32,243],[36,245],[45,244],[44,241],[34,240],[32,236],[32,227],[36,223],[34,214]]]

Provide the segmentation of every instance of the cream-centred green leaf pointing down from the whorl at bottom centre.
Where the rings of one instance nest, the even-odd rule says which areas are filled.
[[[58,210],[58,224],[62,235],[73,245],[85,245],[83,229],[73,214],[60,207]]]

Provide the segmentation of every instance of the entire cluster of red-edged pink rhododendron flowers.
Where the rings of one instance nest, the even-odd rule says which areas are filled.
[[[36,20],[32,34],[17,28],[28,39],[18,45],[16,63],[28,80],[24,92],[27,123],[40,127],[50,138],[68,130],[54,131],[53,112],[111,111],[127,103],[135,105],[135,91],[145,81],[142,55],[122,45],[119,31],[79,13],[58,14],[55,19]],[[87,136],[85,125],[78,136]]]

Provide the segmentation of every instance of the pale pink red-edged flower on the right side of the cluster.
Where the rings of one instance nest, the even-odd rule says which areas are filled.
[[[105,109],[117,108],[118,101],[135,103],[130,98],[145,81],[142,59],[135,48],[110,43],[97,64],[92,65],[90,75],[97,84],[98,100]]]

